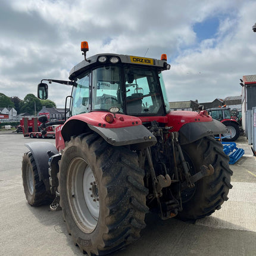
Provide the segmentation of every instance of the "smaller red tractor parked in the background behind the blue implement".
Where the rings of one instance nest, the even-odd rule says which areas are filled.
[[[239,123],[231,117],[229,108],[210,108],[208,113],[214,119],[220,121],[227,127],[227,132],[223,133],[223,141],[236,141],[240,136]]]

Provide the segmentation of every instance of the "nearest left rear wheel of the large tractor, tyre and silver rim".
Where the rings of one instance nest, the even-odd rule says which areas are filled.
[[[137,154],[95,133],[66,143],[58,174],[60,204],[82,252],[105,255],[139,238],[148,211],[143,176]]]

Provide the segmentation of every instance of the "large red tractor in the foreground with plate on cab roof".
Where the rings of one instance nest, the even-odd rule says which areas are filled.
[[[71,117],[48,142],[27,143],[23,185],[30,205],[63,210],[67,232],[88,255],[139,238],[145,214],[195,220],[219,210],[232,188],[229,157],[207,111],[170,111],[161,60],[118,54],[86,58],[70,72]],[[48,97],[39,83],[38,96]],[[70,103],[70,104],[67,104]]]

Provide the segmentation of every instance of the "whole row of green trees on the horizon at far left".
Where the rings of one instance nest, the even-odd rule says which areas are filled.
[[[38,99],[32,93],[27,94],[24,99],[20,99],[17,96],[8,97],[4,93],[0,93],[0,108],[15,108],[17,114],[29,113],[35,114],[42,110],[42,107],[56,108],[55,102],[49,99]]]

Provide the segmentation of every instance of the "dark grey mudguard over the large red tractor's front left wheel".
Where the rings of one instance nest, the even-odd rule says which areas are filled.
[[[32,152],[33,157],[36,162],[36,167],[38,168],[39,180],[44,180],[49,178],[48,173],[48,151],[52,151],[54,154],[58,154],[58,150],[52,143],[49,142],[30,142],[26,143],[25,146],[29,148]]]

